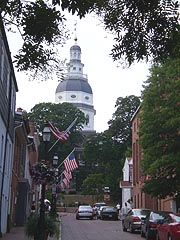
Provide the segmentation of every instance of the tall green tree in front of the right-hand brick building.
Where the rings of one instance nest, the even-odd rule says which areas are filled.
[[[143,92],[140,144],[144,191],[165,198],[180,191],[180,60],[151,69]]]

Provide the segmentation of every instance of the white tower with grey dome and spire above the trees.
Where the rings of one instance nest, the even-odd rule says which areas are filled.
[[[96,111],[93,106],[93,92],[88,83],[86,74],[83,74],[84,64],[81,62],[81,48],[75,44],[70,48],[70,61],[67,64],[67,72],[55,93],[55,102],[72,103],[79,108],[86,117],[83,132],[94,132],[94,116]]]

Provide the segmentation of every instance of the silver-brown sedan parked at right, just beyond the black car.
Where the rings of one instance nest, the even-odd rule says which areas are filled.
[[[150,209],[131,209],[122,219],[122,228],[126,232],[127,229],[132,233],[135,230],[141,230],[141,218],[146,217]]]

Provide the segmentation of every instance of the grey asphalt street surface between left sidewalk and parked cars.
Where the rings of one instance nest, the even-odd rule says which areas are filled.
[[[61,240],[142,240],[140,234],[123,232],[121,221],[76,220],[75,214],[61,216]]]

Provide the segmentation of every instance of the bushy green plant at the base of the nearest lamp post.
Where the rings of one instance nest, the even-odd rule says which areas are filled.
[[[32,214],[27,219],[26,225],[25,225],[25,234],[28,237],[33,237],[34,240],[39,240],[39,215]],[[50,217],[49,215],[45,215],[45,227],[44,231],[46,233],[46,239],[48,239],[48,236],[56,236],[58,239],[59,236],[59,224],[56,221],[55,218]]]

